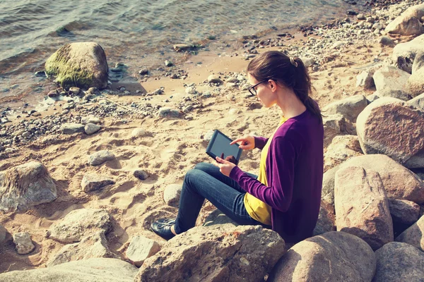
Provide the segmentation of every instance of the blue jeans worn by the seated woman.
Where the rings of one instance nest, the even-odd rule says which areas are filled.
[[[257,178],[251,173],[248,174]],[[245,190],[242,190],[235,180],[220,173],[217,166],[208,163],[196,164],[184,178],[175,232],[179,234],[194,227],[205,199],[240,225],[264,226],[247,213],[245,194]]]

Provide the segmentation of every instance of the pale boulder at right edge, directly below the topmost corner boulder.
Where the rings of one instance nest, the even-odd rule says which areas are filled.
[[[399,68],[408,73],[412,72],[413,61],[416,54],[424,51],[424,35],[420,35],[410,42],[397,44],[393,49],[391,59],[396,62]]]

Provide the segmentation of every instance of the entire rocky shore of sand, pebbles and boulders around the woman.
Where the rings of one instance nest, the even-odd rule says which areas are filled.
[[[201,66],[166,61],[160,79],[107,66],[95,43],[59,49],[37,73],[61,85],[43,106],[1,109],[0,281],[421,281],[424,4],[397,2],[299,34],[245,37]],[[55,62],[78,61],[73,48],[100,58],[102,68],[87,66],[92,84],[71,73],[73,61]],[[150,223],[175,216],[184,174],[211,161],[212,130],[275,129],[278,109],[247,92],[244,71],[267,50],[304,61],[323,109],[314,237],[290,245],[206,202],[196,228],[161,240]],[[255,173],[259,156],[245,152],[240,168]]]

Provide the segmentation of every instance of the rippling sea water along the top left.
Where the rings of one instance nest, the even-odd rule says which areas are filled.
[[[342,0],[1,0],[0,98],[42,92],[42,78],[33,73],[69,42],[98,42],[110,62],[152,66],[177,56],[172,44],[207,44],[211,35],[232,44],[270,27],[324,22],[359,8]]]

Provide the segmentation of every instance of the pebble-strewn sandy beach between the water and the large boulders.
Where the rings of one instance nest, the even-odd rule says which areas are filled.
[[[411,3],[416,1],[409,1],[408,5]],[[375,16],[375,13],[373,10],[370,15]],[[392,47],[379,46],[377,39],[381,35],[377,36],[372,31],[358,35],[361,29],[348,25],[351,23],[339,23],[335,28],[316,30],[314,32],[318,35],[309,35],[314,39],[303,37],[302,34],[290,40],[274,37],[273,42],[261,38],[246,39],[244,44],[247,47],[240,49],[237,56],[227,54],[216,57],[204,53],[204,63],[200,65],[185,62],[177,66],[177,70],[182,69],[188,73],[185,80],[167,76],[142,83],[148,93],[165,86],[164,94],[121,95],[124,91],[131,90],[132,93],[137,90],[131,87],[135,87],[139,80],[128,79],[127,84],[118,82],[116,85],[125,86],[125,90],[104,94],[104,97],[98,95],[89,102],[83,103],[78,97],[65,97],[73,99],[73,106],[69,109],[64,109],[69,102],[58,101],[48,106],[47,111],[37,111],[40,116],[25,117],[16,113],[23,117],[1,125],[0,131],[6,133],[0,134],[0,141],[3,142],[0,143],[3,147],[0,152],[0,171],[31,160],[40,161],[57,185],[58,198],[54,202],[29,209],[28,212],[0,213],[0,224],[9,233],[29,231],[32,240],[37,243],[32,253],[20,256],[8,240],[2,254],[5,262],[0,262],[0,273],[45,266],[64,246],[63,243],[49,239],[46,236],[47,229],[75,209],[107,209],[112,214],[114,231],[107,234],[107,241],[110,250],[122,259],[125,259],[124,253],[133,235],[158,240],[157,236],[148,231],[149,223],[158,216],[172,215],[177,211],[175,207],[165,204],[163,190],[167,185],[181,184],[186,171],[196,163],[211,161],[204,153],[208,132],[218,128],[230,137],[247,133],[266,136],[272,133],[280,118],[281,113],[276,107],[264,109],[255,97],[244,90],[247,84],[238,78],[244,75],[248,63],[242,59],[244,54],[254,55],[253,50],[287,49],[290,55],[299,54],[314,59],[315,62],[308,69],[316,89],[315,99],[321,107],[355,94],[372,94],[374,90],[355,86],[356,75],[364,66],[389,59]],[[350,36],[352,30],[358,35],[357,38]],[[305,42],[305,38],[308,42]],[[393,38],[404,42],[409,37]],[[261,40],[264,44],[260,44]],[[338,45],[337,42],[343,44]],[[271,47],[271,44],[278,43],[285,45]],[[241,51],[247,49],[249,53]],[[219,75],[223,84],[208,83],[206,80],[211,74]],[[238,82],[231,82],[236,80]],[[201,94],[187,93],[189,87],[194,87]],[[182,114],[179,118],[159,117],[160,109],[167,106],[178,109]],[[66,110],[68,114],[62,114]],[[98,133],[60,133],[62,123],[79,123],[91,115],[100,119],[102,128]],[[31,133],[33,137],[30,138],[22,135],[12,137],[18,130],[34,132],[29,129],[34,126],[40,132],[44,126],[49,133]],[[139,130],[139,133],[134,133],[134,130]],[[4,140],[11,140],[11,143],[5,145]],[[89,166],[88,156],[104,149],[114,152],[116,160],[102,166]],[[255,172],[259,168],[259,155],[260,152],[247,152],[242,157],[240,168]],[[136,169],[146,171],[149,177],[146,180],[135,178],[133,172]],[[83,192],[81,180],[86,173],[110,176],[115,184],[101,190]],[[213,210],[214,207],[206,203],[199,216],[199,223]]]

